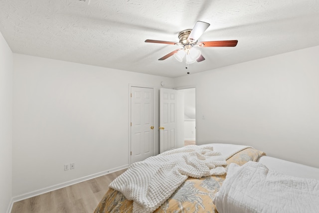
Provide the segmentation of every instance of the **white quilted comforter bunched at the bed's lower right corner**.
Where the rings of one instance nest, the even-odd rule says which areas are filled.
[[[218,213],[319,213],[319,181],[252,161],[230,164],[213,202]]]

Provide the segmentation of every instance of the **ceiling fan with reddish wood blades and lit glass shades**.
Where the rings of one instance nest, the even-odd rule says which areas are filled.
[[[147,39],[145,40],[145,42],[181,46],[181,48],[178,48],[168,53],[167,55],[164,55],[159,60],[165,60],[170,56],[174,55],[177,61],[182,62],[183,57],[186,55],[185,58],[187,69],[187,64],[194,63],[195,61],[201,62],[205,60],[204,56],[201,55],[201,52],[196,48],[194,49],[193,47],[235,47],[237,45],[238,40],[198,42],[199,37],[205,32],[209,25],[209,23],[197,21],[193,29],[185,29],[178,33],[179,42],[160,41],[151,39]]]

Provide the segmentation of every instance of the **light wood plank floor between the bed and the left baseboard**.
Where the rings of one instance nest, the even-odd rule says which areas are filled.
[[[124,171],[16,202],[11,213],[93,213],[109,184]]]

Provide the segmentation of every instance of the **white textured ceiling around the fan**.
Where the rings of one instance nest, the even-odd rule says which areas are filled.
[[[197,20],[206,60],[158,59]],[[0,31],[14,53],[178,77],[319,45],[318,0],[0,0]]]

